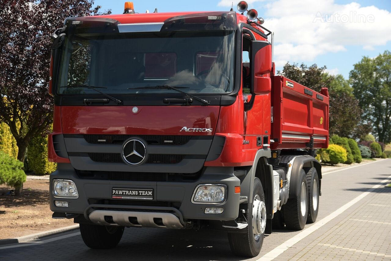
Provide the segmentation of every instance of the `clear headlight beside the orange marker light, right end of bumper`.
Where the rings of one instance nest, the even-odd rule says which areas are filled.
[[[197,204],[218,204],[226,199],[226,185],[201,184],[194,190],[192,202]]]

